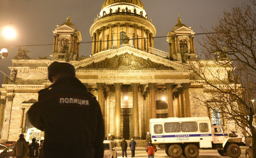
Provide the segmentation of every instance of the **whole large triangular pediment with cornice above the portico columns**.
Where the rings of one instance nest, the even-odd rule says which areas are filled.
[[[154,68],[158,70],[189,70],[187,66],[184,66],[177,61],[171,61],[169,59],[165,59],[130,46],[123,46],[113,50],[96,53],[92,57],[80,61],[75,61],[72,64],[74,65],[75,69],[94,69],[96,67],[118,69],[117,67],[119,67],[119,69],[122,70],[144,68]]]

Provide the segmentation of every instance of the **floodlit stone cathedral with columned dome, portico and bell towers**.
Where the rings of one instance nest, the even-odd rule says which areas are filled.
[[[188,61],[197,58],[195,32],[180,17],[167,33],[168,53],[154,47],[156,28],[141,0],[105,0],[96,17],[89,30],[88,57],[79,55],[81,32],[70,16],[53,31],[51,59],[30,59],[19,48],[10,79],[0,87],[1,141],[16,140],[33,127],[27,110],[37,101],[37,92],[51,85],[47,66],[54,61],[71,63],[76,77],[97,98],[106,138],[146,138],[150,118],[209,116],[211,123],[222,125],[220,117],[212,117],[192,97],[207,92],[191,78]]]

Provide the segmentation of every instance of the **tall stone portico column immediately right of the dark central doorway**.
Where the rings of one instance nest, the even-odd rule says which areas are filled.
[[[140,126],[139,126],[139,105],[138,105],[138,88],[139,83],[131,83],[133,89],[133,137],[135,139],[140,138]]]

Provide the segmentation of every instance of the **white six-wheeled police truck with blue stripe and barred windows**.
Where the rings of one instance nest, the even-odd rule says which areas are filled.
[[[196,158],[201,149],[215,149],[221,156],[238,158],[244,138],[227,134],[221,126],[211,125],[207,117],[152,118],[149,120],[150,139],[165,149],[171,158]]]

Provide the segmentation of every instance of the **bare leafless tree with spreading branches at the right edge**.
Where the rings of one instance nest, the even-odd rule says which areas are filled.
[[[206,96],[194,97],[209,112],[219,112],[224,123],[233,123],[252,136],[256,158],[256,3],[224,11],[216,26],[205,33],[203,60],[190,61],[190,65],[192,77],[203,84]]]

